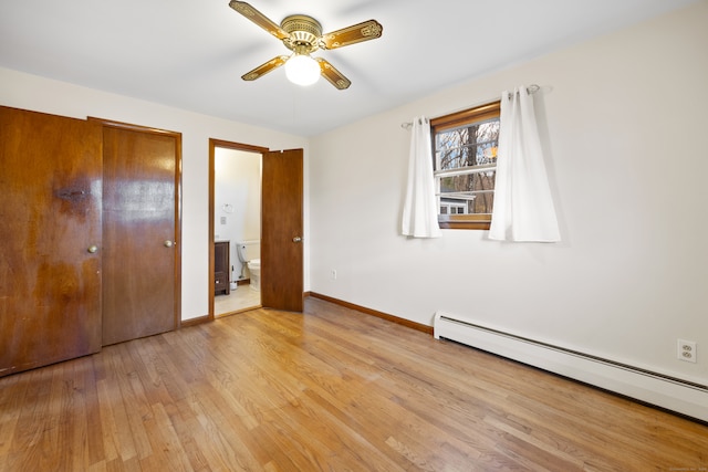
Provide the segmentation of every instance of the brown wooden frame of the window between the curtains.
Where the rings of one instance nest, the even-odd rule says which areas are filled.
[[[486,122],[491,118],[499,118],[501,115],[501,101],[494,101],[485,105],[464,109],[430,119],[430,146],[433,147],[433,165],[436,159],[436,135],[451,128],[478,122]],[[435,167],[434,167],[435,168]],[[439,208],[438,208],[439,211]],[[442,229],[452,230],[488,230],[491,225],[491,214],[440,214],[438,213],[438,224]]]

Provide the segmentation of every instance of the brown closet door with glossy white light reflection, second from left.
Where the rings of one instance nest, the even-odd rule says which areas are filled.
[[[180,135],[103,128],[103,345],[177,326]]]

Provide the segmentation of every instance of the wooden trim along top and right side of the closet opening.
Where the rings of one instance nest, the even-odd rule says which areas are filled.
[[[174,329],[178,329],[181,327],[181,166],[183,166],[183,153],[181,153],[181,133],[170,132],[168,129],[154,128],[150,126],[142,126],[134,125],[131,123],[116,122],[113,119],[97,118],[90,116],[88,120],[95,120],[101,123],[101,125],[106,127],[114,127],[127,130],[134,130],[139,133],[150,133],[156,135],[171,136],[175,138],[175,154],[176,154],[176,162],[175,162],[175,270],[174,270],[174,284],[175,284],[175,295],[174,295]]]

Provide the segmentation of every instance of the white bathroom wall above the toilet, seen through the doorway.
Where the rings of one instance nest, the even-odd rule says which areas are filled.
[[[261,239],[261,155],[216,148],[214,156],[214,234],[231,242],[231,282],[243,273],[236,245]]]

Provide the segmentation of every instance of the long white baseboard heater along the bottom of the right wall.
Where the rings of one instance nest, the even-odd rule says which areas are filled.
[[[485,327],[444,312],[435,314],[434,336],[708,421],[706,385]]]

